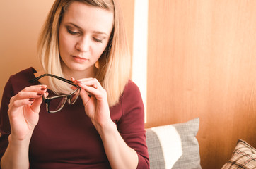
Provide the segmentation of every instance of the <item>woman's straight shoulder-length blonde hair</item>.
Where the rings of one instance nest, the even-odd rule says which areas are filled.
[[[124,20],[120,5],[116,0],[56,0],[47,16],[38,41],[40,62],[46,73],[64,77],[59,57],[59,23],[62,15],[73,1],[81,1],[90,6],[103,8],[114,13],[112,33],[107,47],[98,60],[96,78],[107,92],[107,101],[114,106],[120,99],[129,80],[131,57]],[[50,82],[54,92],[69,90],[58,80]]]

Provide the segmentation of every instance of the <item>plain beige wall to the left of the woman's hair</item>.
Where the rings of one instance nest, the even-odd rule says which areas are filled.
[[[37,61],[37,37],[52,4],[53,0],[1,1],[1,96],[10,75],[30,66],[41,68]]]

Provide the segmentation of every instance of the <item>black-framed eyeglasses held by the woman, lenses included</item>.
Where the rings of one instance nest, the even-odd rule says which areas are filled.
[[[80,94],[81,87],[74,84],[71,80],[66,80],[62,77],[52,75],[52,74],[44,74],[44,75],[40,75],[39,77],[37,77],[33,80],[30,80],[29,82],[33,83],[37,80],[40,80],[40,78],[45,77],[45,76],[54,77],[58,80],[62,80],[63,82],[69,83],[72,86],[76,87],[74,92],[71,92],[70,94],[61,94],[61,95],[58,95],[58,96],[50,96],[50,97],[46,97],[46,98],[45,98],[44,95],[42,95],[42,99],[43,99],[43,101],[45,101],[46,111],[48,113],[57,113],[58,111],[62,110],[62,108],[66,104],[66,101],[69,104],[74,104],[76,102],[76,100],[78,99],[78,96]]]

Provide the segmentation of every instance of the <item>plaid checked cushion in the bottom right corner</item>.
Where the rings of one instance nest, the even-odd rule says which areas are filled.
[[[231,159],[222,169],[252,169],[256,168],[256,149],[242,139],[238,139]]]

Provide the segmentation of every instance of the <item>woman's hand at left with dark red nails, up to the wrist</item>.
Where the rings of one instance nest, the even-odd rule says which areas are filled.
[[[38,123],[42,94],[46,93],[46,85],[25,87],[10,100],[8,116],[11,124],[11,138],[28,139]]]

